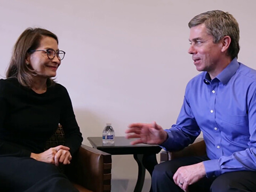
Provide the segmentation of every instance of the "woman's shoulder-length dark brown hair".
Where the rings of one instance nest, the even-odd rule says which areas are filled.
[[[54,38],[59,44],[58,37],[51,31],[42,28],[27,28],[14,45],[10,65],[6,71],[6,77],[15,77],[23,86],[31,88],[33,85],[34,70],[26,65],[26,59],[31,50],[40,46],[43,36]],[[53,79],[47,79],[47,85],[53,85]]]

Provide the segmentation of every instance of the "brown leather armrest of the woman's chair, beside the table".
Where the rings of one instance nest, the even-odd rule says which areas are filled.
[[[70,180],[86,189],[102,192],[111,190],[111,155],[82,145],[67,169]]]

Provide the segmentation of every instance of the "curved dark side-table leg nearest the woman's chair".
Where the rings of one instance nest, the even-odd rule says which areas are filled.
[[[135,185],[134,192],[141,192],[143,184],[144,184],[145,172],[146,172],[146,169],[142,164],[143,154],[134,154],[133,158],[138,163],[138,167],[139,167],[138,179],[137,179],[137,183]]]

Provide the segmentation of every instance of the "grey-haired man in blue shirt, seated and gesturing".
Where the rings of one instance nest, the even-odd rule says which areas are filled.
[[[238,23],[216,10],[188,25],[188,53],[204,72],[188,83],[177,123],[134,123],[126,137],[179,150],[203,132],[207,156],[156,165],[154,191],[256,191],[256,71],[237,62]]]

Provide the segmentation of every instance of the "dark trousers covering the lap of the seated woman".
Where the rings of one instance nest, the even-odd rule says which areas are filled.
[[[0,157],[0,191],[78,192],[58,167],[29,157]]]

